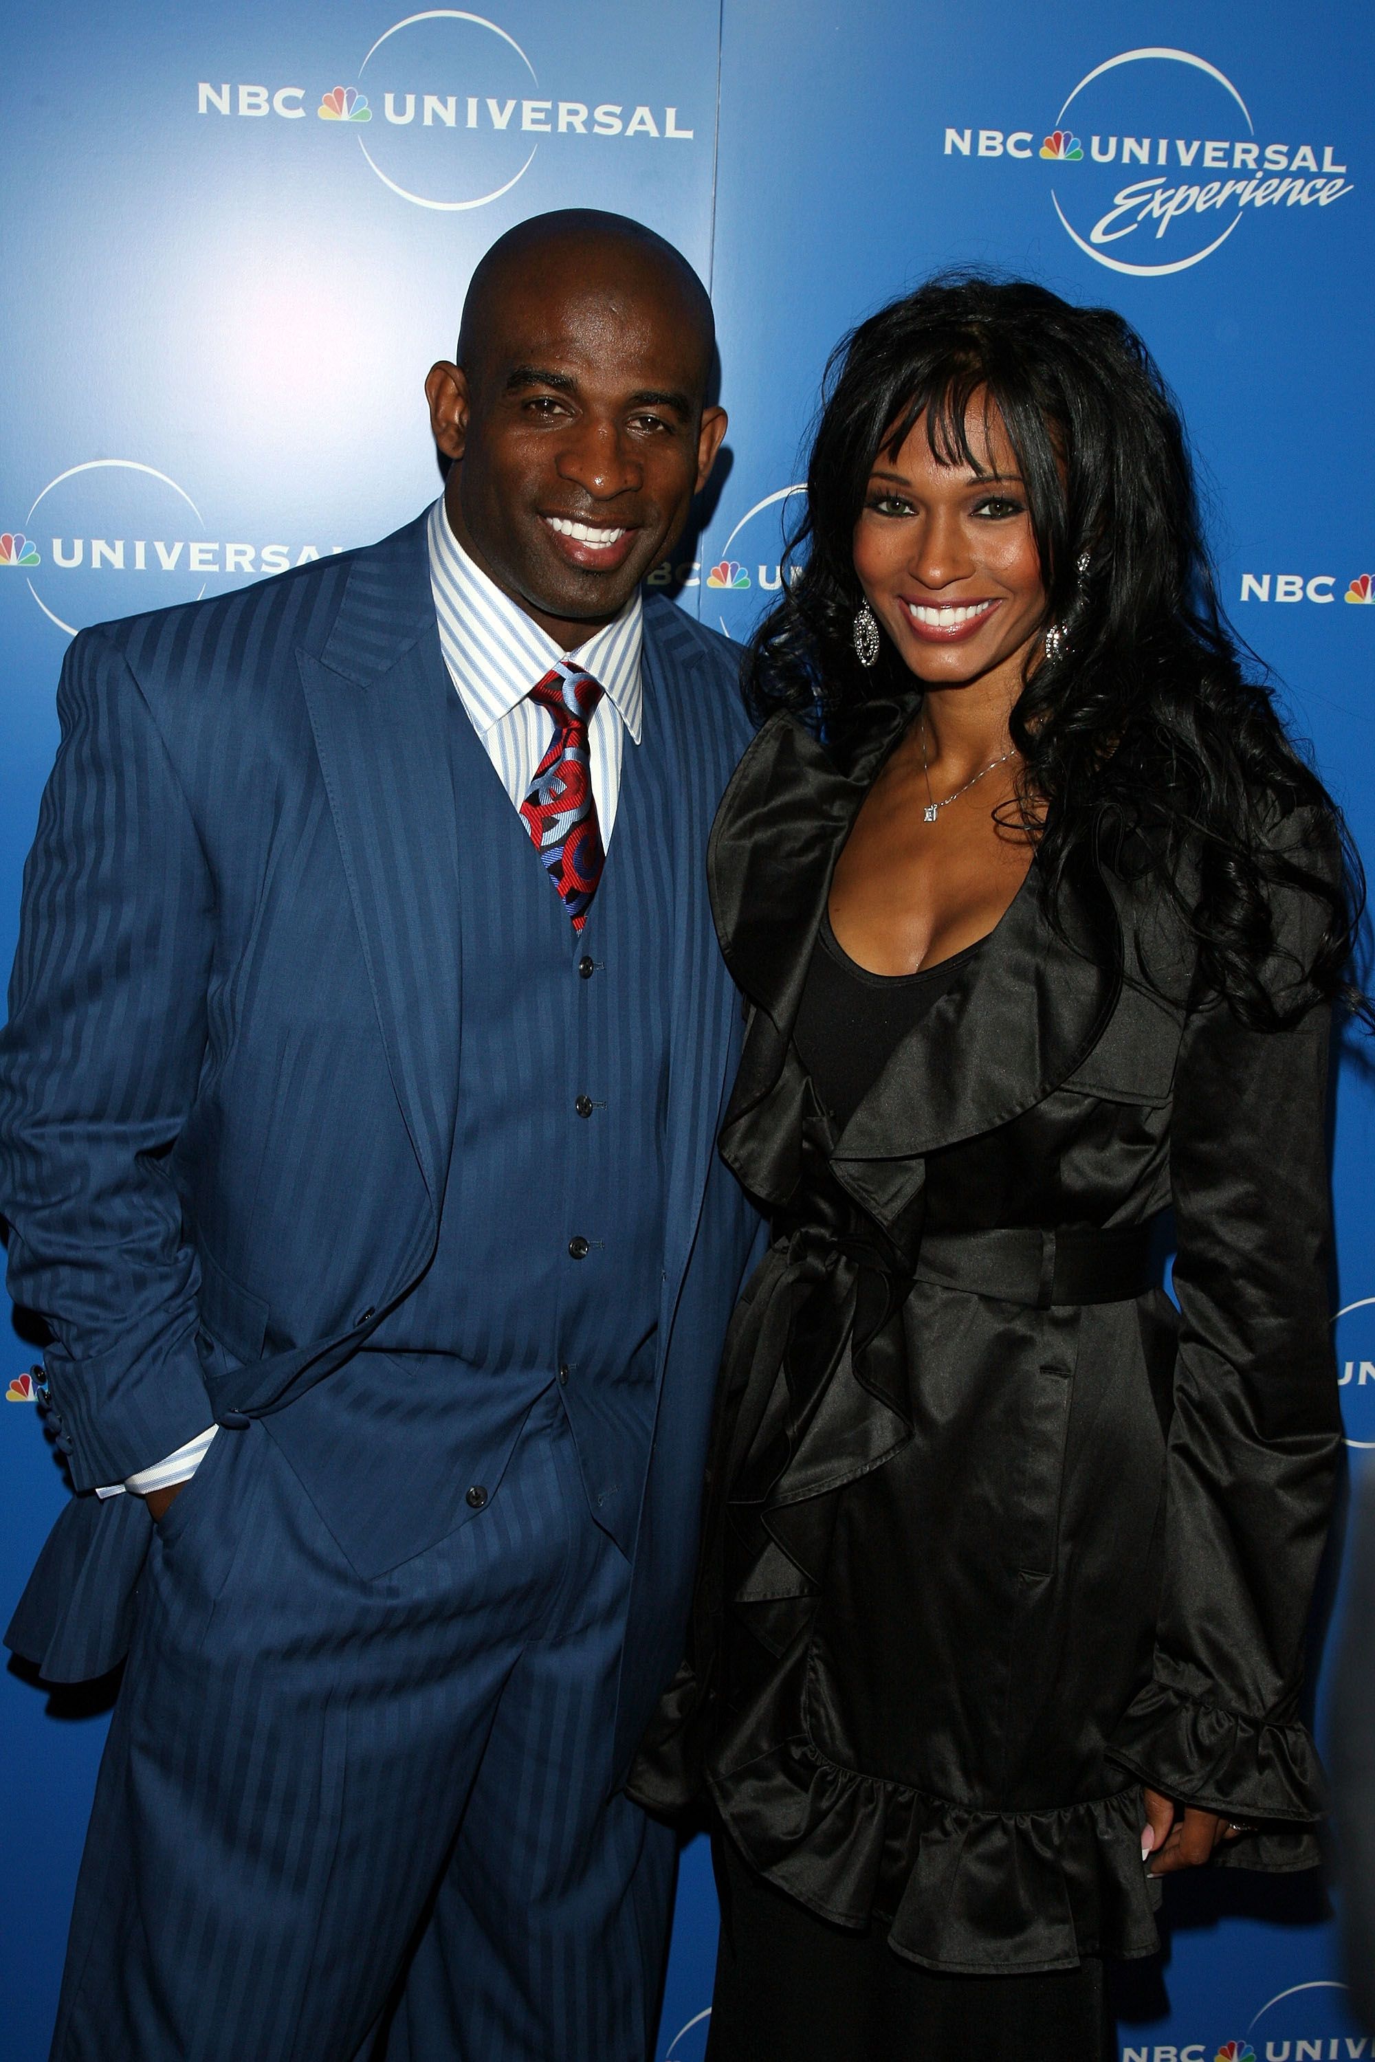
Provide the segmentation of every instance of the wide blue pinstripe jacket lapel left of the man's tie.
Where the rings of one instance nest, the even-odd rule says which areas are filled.
[[[324,647],[297,652],[297,664],[392,1085],[437,1223],[458,1103],[460,895],[454,687],[425,518],[357,557]]]

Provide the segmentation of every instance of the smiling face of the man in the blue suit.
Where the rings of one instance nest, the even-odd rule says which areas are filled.
[[[672,270],[616,241],[505,266],[464,315],[464,367],[427,384],[456,460],[449,524],[571,647],[625,608],[680,534],[726,433],[703,408],[711,338]]]

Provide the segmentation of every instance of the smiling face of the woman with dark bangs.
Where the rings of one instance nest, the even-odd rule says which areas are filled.
[[[853,534],[860,584],[907,668],[928,687],[967,687],[1020,668],[1045,621],[1027,491],[996,408],[975,394],[977,462],[942,464],[919,414],[880,452]]]

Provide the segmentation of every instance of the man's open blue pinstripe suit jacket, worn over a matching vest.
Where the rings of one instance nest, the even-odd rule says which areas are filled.
[[[645,691],[680,796],[678,969],[625,1753],[678,1660],[717,1355],[757,1239],[713,1151],[740,1029],[705,887],[746,742],[734,654],[647,598]],[[54,1330],[76,1491],[328,1379],[435,1250],[462,1035],[449,695],[423,520],[70,647],[0,1035],[0,1210],[10,1291]],[[303,1025],[322,895],[346,897],[361,971],[340,969],[336,1023]],[[8,1643],[56,1681],[113,1666],[148,1524],[138,1499],[76,1495]]]

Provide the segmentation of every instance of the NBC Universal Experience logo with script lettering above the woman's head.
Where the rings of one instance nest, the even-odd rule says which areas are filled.
[[[1070,241],[1138,278],[1202,264],[1272,208],[1352,192],[1336,144],[1260,136],[1231,78],[1187,49],[1124,49],[1080,78],[1049,130],[952,126],[944,155],[1049,167]]]

